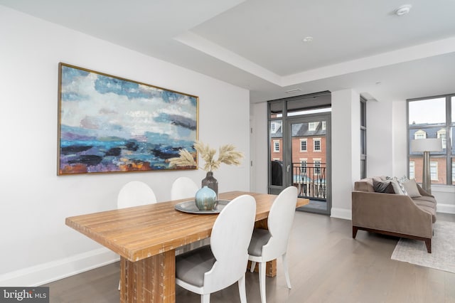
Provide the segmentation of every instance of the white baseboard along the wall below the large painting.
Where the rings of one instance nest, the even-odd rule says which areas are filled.
[[[116,253],[107,248],[99,248],[89,252],[82,252],[72,257],[27,267],[14,272],[7,272],[0,275],[0,285],[4,287],[35,287],[108,265],[118,260],[120,258]]]

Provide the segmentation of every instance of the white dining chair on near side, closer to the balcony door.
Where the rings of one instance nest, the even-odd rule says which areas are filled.
[[[297,188],[289,186],[284,189],[272,204],[267,219],[267,228],[255,228],[248,248],[248,260],[251,261],[251,272],[259,263],[259,291],[261,302],[266,302],[265,296],[265,265],[267,262],[282,257],[284,276],[287,287],[291,288],[287,265],[287,243],[292,221],[296,211]]]

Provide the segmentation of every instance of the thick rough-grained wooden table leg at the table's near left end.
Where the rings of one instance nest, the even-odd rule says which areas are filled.
[[[120,302],[176,302],[174,250],[132,262],[120,260]]]

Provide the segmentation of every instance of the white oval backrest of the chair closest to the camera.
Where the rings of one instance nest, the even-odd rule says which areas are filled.
[[[210,248],[216,262],[205,272],[205,291],[217,292],[245,275],[255,217],[256,201],[249,195],[230,201],[218,215],[210,235]]]

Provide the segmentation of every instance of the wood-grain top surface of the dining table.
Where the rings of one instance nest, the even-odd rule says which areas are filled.
[[[267,193],[230,191],[220,193],[220,199],[232,200],[243,194],[256,199],[256,221],[269,216],[270,207],[277,197]],[[188,200],[90,213],[66,218],[65,223],[127,260],[136,262],[210,237],[218,214],[176,211],[176,203]],[[299,198],[296,207],[308,203],[308,199]]]

